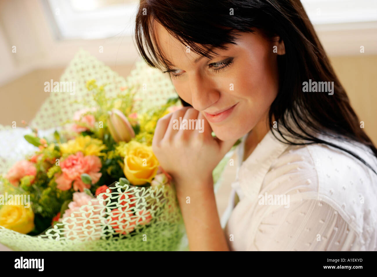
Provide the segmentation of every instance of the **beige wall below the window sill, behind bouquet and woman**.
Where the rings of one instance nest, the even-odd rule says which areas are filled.
[[[377,55],[330,58],[334,69],[345,87],[352,107],[360,121],[365,122],[365,131],[377,144],[376,77]],[[111,67],[126,77],[131,66]],[[30,121],[48,93],[44,92],[46,80],[58,80],[63,73],[60,69],[40,69],[24,75],[0,87],[0,124],[11,125],[12,121]]]

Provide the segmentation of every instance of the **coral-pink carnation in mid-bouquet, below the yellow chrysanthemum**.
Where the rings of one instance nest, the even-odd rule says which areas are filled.
[[[89,174],[92,178],[92,184],[100,180],[102,173],[102,164],[97,156],[84,156],[82,152],[69,155],[60,163],[62,174],[56,178],[57,188],[60,190],[69,190],[72,187],[75,191],[84,191],[84,188],[90,188],[90,184],[85,184],[81,180],[81,174]]]

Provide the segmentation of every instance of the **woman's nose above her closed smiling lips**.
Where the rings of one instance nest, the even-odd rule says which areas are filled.
[[[202,78],[199,74],[189,78],[191,90],[191,103],[195,110],[205,110],[220,98],[220,92],[210,80]]]

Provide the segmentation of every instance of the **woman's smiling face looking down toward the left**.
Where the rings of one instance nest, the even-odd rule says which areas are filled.
[[[178,95],[205,116],[219,139],[241,138],[265,122],[278,91],[276,52],[284,54],[279,38],[240,33],[237,44],[213,49],[218,55],[209,60],[189,51],[159,23],[155,28],[162,53],[174,65],[170,75]]]

